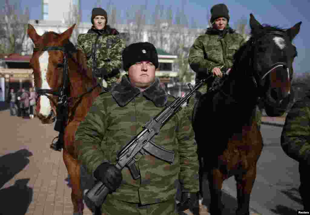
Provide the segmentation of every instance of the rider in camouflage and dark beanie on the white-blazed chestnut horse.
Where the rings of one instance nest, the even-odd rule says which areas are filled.
[[[92,69],[102,91],[107,91],[120,77],[125,43],[119,32],[107,25],[108,15],[104,9],[93,8],[91,23],[91,29],[78,36],[76,47],[85,53],[87,66]]]

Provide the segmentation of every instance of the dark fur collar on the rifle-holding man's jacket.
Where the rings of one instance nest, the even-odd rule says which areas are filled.
[[[133,87],[127,75],[123,75],[122,81],[112,88],[112,96],[121,107],[126,106],[132,99],[140,93],[139,88]],[[168,98],[166,91],[160,86],[158,78],[146,90],[141,92],[143,96],[153,101],[157,107],[163,107]]]

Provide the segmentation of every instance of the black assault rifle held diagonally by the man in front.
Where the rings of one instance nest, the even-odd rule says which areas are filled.
[[[162,128],[166,124],[166,122],[174,116],[181,108],[182,105],[189,99],[189,97],[197,91],[199,87],[201,87],[208,78],[201,80],[195,86],[192,86],[188,83],[188,87],[191,89],[185,96],[177,97],[174,102],[172,102],[169,106],[164,108],[159,114],[157,114],[154,118],[150,119],[148,123],[143,126],[143,130],[139,132],[131,141],[129,141],[126,146],[122,148],[122,150],[118,153],[117,156],[117,163],[115,167],[118,169],[123,169],[127,166],[131,172],[131,175],[134,179],[140,177],[138,170],[135,168],[135,155],[138,153],[143,154],[147,151],[149,154],[152,154],[156,157],[166,157],[171,162],[171,155],[167,150],[163,149],[162,147],[156,146],[151,139],[157,135]],[[153,148],[153,150],[152,150]],[[156,153],[158,148],[161,148],[162,153]],[[154,153],[155,152],[155,153]],[[170,157],[170,158],[169,158]],[[172,157],[173,162],[173,157]],[[95,186],[88,190],[86,193],[86,197],[90,199],[97,207],[101,206],[104,202],[105,197],[108,195],[110,190],[101,182],[99,181]]]

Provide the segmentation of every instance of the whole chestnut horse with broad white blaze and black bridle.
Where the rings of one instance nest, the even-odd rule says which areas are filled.
[[[73,214],[78,215],[83,214],[84,204],[74,134],[101,90],[87,68],[85,55],[69,41],[74,26],[62,34],[46,32],[40,36],[29,24],[28,35],[35,45],[30,65],[38,93],[37,116],[42,123],[53,123],[60,115],[65,117],[61,124],[63,159],[72,184]]]

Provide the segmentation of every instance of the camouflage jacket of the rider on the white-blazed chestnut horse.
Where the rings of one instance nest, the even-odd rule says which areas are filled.
[[[98,40],[96,42],[96,40]],[[95,64],[93,65],[93,50],[96,44]],[[86,55],[87,66],[93,69],[93,66],[100,72],[104,70],[107,76],[104,77],[107,88],[111,88],[113,83],[120,77],[119,69],[122,67],[122,51],[125,43],[120,38],[116,29],[109,25],[103,31],[94,27],[88,30],[87,34],[78,36],[76,48],[82,50]],[[118,73],[117,73],[118,71]],[[95,71],[93,71],[95,72]],[[102,78],[97,78],[97,82],[102,86]]]

